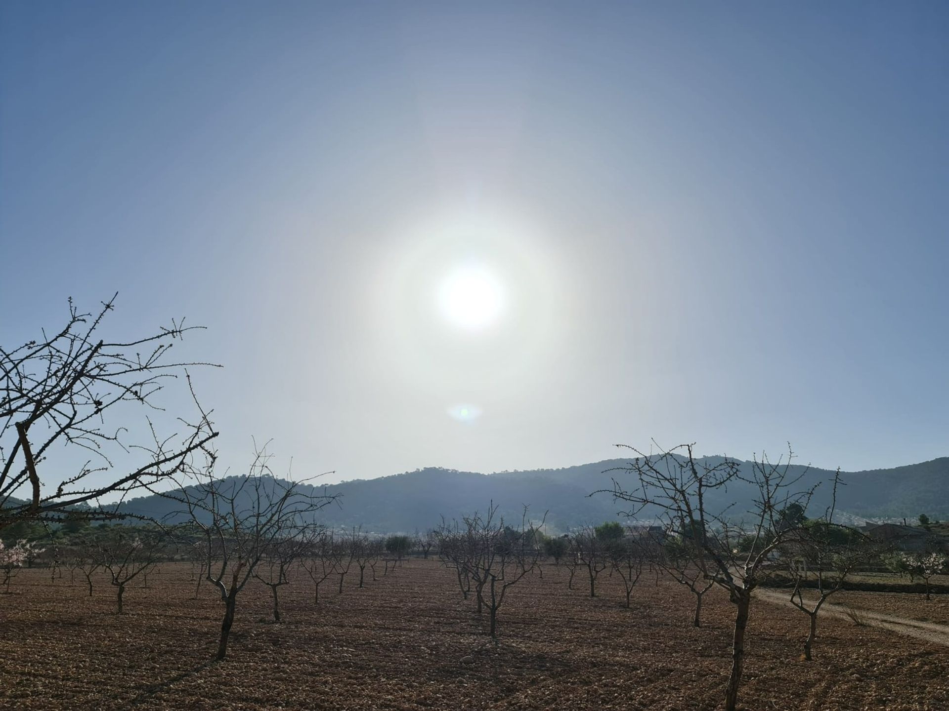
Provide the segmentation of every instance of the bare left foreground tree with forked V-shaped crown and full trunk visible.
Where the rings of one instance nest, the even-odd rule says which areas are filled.
[[[254,452],[249,472],[243,477],[218,477],[215,459],[211,455],[206,465],[191,471],[196,483],[162,496],[182,504],[177,513],[194,521],[207,542],[207,579],[224,603],[217,646],[217,659],[222,660],[227,656],[237,595],[261,559],[274,543],[299,531],[335,498],[313,493],[305,482],[276,479],[266,447]]]

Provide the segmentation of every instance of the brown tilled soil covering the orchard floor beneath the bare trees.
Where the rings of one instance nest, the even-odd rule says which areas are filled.
[[[319,607],[297,574],[281,589],[279,625],[267,589],[252,583],[229,658],[214,664],[221,603],[208,585],[192,599],[189,573],[163,566],[148,589],[126,591],[116,615],[102,578],[89,599],[79,579],[50,586],[47,571],[22,571],[0,596],[0,707],[715,709],[731,664],[724,594],[706,596],[705,626],[694,629],[693,597],[674,582],[644,576],[627,610],[606,574],[591,599],[580,573],[570,591],[550,566],[512,588],[495,644],[454,574],[431,560],[363,590],[350,574],[343,595],[327,580]],[[801,612],[754,602],[744,708],[949,708],[949,647],[828,617],[803,662],[806,629]]]

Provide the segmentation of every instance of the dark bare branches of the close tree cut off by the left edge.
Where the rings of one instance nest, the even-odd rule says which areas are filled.
[[[186,367],[211,364],[169,360],[173,343],[200,328],[185,327],[184,319],[149,336],[100,337],[114,303],[113,296],[92,315],[70,300],[62,329],[0,347],[0,528],[25,519],[63,520],[68,509],[72,517],[117,518],[117,505],[98,505],[103,497],[121,498],[173,477],[217,436],[200,408],[195,422],[178,420],[177,433],[158,434],[147,415],[133,427],[130,406],[158,413],[159,391],[178,377],[188,379]],[[190,390],[190,379],[188,384]],[[147,439],[125,442],[136,436],[133,429]],[[45,468],[54,446],[66,451]],[[81,464],[59,477],[73,452],[82,454]],[[85,503],[97,505],[77,507]]]

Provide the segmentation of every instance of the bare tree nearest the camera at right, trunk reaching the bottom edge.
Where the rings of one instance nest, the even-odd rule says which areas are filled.
[[[693,541],[692,563],[702,576],[729,593],[735,604],[735,636],[732,672],[725,689],[725,709],[735,711],[745,657],[745,629],[752,592],[766,569],[774,565],[776,550],[796,538],[801,527],[782,513],[791,507],[805,511],[814,487],[800,487],[807,472],[791,469],[788,458],[772,463],[767,456],[754,458],[750,467],[734,460],[697,459],[692,445],[682,445],[658,454],[645,454],[633,447],[636,458],[623,467],[638,485],[631,490],[614,480],[608,490],[614,499],[633,504],[633,517],[648,515],[661,520],[669,532],[684,531]],[[754,508],[740,518],[730,509],[712,511],[710,493],[723,495],[729,484],[741,483],[754,492]],[[594,492],[597,493],[597,492]]]

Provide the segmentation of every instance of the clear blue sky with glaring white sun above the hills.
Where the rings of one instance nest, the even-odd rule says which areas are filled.
[[[946,456],[947,40],[941,2],[9,0],[0,342],[186,316],[222,461],[326,483]]]

